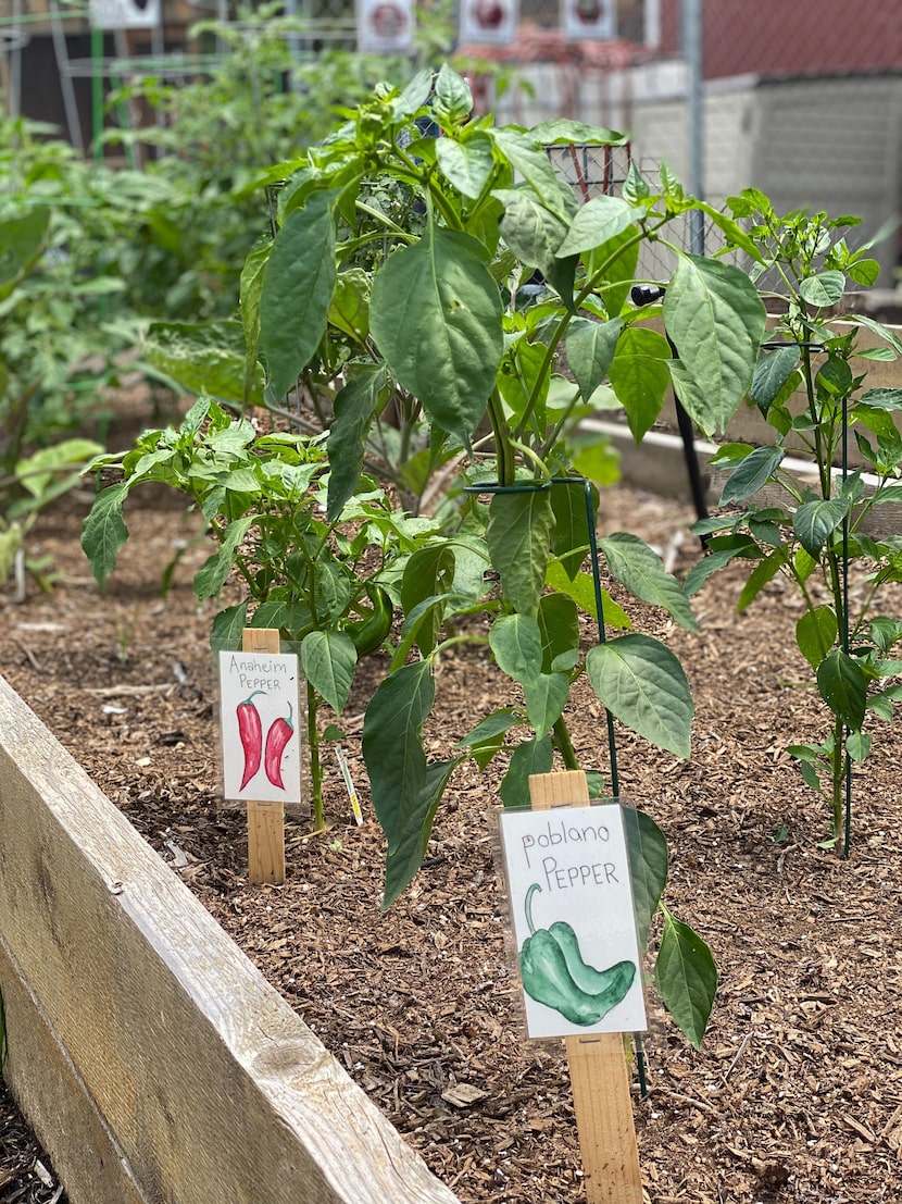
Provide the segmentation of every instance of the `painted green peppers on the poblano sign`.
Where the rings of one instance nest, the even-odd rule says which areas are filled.
[[[536,891],[541,886],[533,883],[524,903],[529,937],[520,950],[523,990],[536,1003],[559,1011],[571,1025],[597,1025],[627,997],[636,966],[625,961],[597,970],[583,961],[576,933],[563,921],[536,931],[533,923]]]

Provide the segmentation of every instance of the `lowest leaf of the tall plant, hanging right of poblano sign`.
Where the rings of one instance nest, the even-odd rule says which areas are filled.
[[[717,967],[701,937],[666,910],[654,979],[677,1028],[701,1049],[717,993]]]

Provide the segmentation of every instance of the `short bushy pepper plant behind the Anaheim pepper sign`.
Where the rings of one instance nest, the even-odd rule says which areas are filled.
[[[392,507],[375,483],[363,485],[327,521],[328,460],[324,438],[259,433],[207,396],[178,429],[146,431],[124,456],[101,455],[93,468],[115,468],[121,479],[96,497],[82,543],[101,583],[113,571],[129,536],[123,506],[150,482],[184,494],[207,520],[215,550],[194,579],[198,602],[215,597],[236,572],[243,600],[213,620],[214,653],[239,648],[244,626],[278,627],[296,644],[307,679],[307,734],[311,801],[324,827],[321,704],[340,715],[358,659],[388,635],[392,607],[381,580],[397,574],[437,527]],[[168,580],[173,565],[164,580]]]

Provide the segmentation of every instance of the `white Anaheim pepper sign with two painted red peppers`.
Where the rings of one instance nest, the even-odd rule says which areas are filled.
[[[224,796],[299,803],[297,655],[220,653],[219,687]]]

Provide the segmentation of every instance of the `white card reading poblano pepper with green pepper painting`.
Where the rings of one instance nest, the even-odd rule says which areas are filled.
[[[619,803],[502,811],[527,1035],[647,1028]]]

